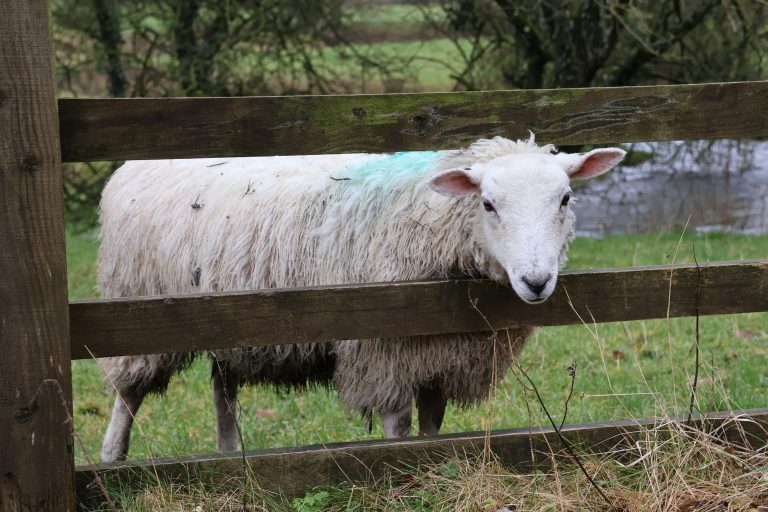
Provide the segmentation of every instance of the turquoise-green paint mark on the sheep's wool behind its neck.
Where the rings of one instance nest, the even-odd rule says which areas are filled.
[[[344,172],[352,181],[384,185],[421,177],[442,158],[441,151],[403,151],[350,165]]]

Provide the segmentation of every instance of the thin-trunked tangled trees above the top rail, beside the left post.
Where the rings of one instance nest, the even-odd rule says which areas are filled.
[[[55,0],[62,90],[228,96],[327,90],[342,0]],[[89,72],[100,80],[89,80]],[[91,76],[92,78],[92,76]],[[101,80],[107,79],[106,87]]]

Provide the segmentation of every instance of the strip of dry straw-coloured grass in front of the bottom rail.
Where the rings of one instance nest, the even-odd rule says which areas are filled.
[[[526,474],[487,453],[457,455],[293,501],[243,477],[224,488],[150,486],[139,493],[115,490],[115,497],[121,508],[136,511],[768,511],[768,452],[750,446],[750,427],[750,419],[738,416],[713,429],[669,420],[628,435],[610,453],[579,451],[610,505],[572,461],[552,454],[547,471]]]

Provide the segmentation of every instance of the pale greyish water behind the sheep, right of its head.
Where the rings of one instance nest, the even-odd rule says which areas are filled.
[[[576,188],[577,233],[768,233],[768,142],[635,144],[650,159]]]

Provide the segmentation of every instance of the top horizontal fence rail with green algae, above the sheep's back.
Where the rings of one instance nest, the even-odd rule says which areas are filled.
[[[768,136],[768,82],[347,96],[59,101],[65,161]],[[716,121],[713,121],[716,120]]]

